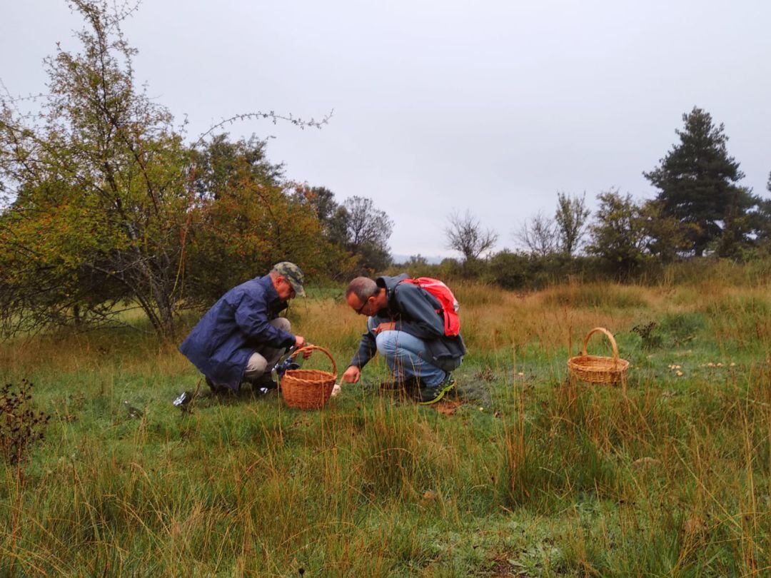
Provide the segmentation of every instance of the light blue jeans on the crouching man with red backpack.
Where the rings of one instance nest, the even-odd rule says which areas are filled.
[[[367,320],[367,328],[369,331],[375,328],[375,318]],[[423,385],[429,387],[444,381],[446,373],[436,365],[424,361],[424,358],[430,358],[430,355],[422,339],[404,331],[383,331],[375,338],[375,343],[396,380],[419,378]]]

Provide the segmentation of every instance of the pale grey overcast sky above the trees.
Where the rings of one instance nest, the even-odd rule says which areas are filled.
[[[44,92],[43,57],[76,48],[80,27],[63,0],[4,0],[8,91]],[[145,0],[123,29],[136,79],[191,137],[236,113],[334,109],[321,130],[228,131],[274,137],[271,160],[338,202],[371,197],[395,254],[452,254],[452,210],[500,249],[557,191],[653,197],[641,173],[693,106],[725,124],[742,184],[769,197],[769,0]]]

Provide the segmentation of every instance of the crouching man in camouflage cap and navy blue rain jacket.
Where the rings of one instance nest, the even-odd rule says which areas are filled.
[[[241,381],[274,387],[270,371],[283,351],[301,348],[305,338],[293,335],[287,318],[278,317],[287,301],[305,297],[303,274],[289,261],[275,264],[227,291],[180,345],[180,351],[206,376],[214,391],[237,391]]]

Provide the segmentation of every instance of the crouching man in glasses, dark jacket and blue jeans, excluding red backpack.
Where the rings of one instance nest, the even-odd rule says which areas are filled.
[[[466,346],[459,335],[445,334],[442,307],[428,291],[397,277],[356,277],[345,291],[345,301],[359,315],[367,316],[367,331],[359,351],[342,375],[356,383],[362,368],[375,352],[385,358],[392,381],[381,387],[404,388],[422,405],[438,402],[453,388],[450,371],[457,368]]]

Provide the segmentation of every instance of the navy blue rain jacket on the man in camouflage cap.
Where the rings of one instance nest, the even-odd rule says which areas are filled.
[[[269,275],[255,277],[227,291],[190,331],[180,351],[214,384],[237,389],[258,348],[295,344],[294,335],[268,323],[286,307]]]

